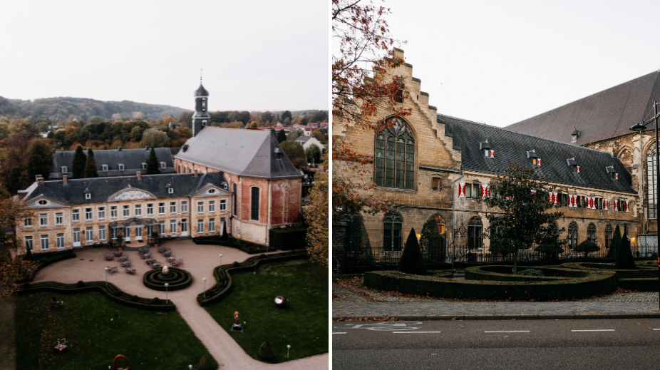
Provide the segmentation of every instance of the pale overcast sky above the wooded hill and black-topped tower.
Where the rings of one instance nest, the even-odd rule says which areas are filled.
[[[329,106],[326,1],[0,1],[0,96]]]

